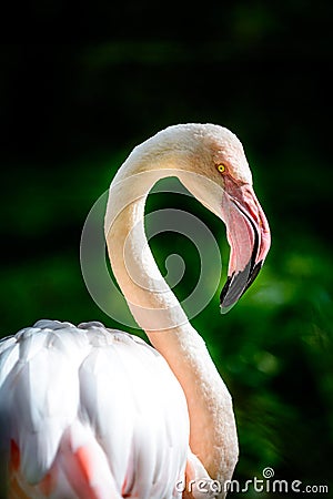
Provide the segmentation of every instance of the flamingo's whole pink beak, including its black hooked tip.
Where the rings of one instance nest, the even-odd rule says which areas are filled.
[[[250,184],[225,179],[222,216],[231,247],[228,281],[221,292],[221,313],[235,305],[258,276],[270,249],[271,235],[265,214]]]

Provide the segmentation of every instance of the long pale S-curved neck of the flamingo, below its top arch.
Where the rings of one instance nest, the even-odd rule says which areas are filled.
[[[184,390],[192,452],[212,478],[225,480],[238,455],[231,397],[204,342],[161,276],[144,234],[149,191],[159,179],[174,175],[169,160],[158,167],[142,164],[132,153],[115,175],[105,215],[110,262],[135,320]]]

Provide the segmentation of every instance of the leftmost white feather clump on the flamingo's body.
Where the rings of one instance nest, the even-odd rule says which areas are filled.
[[[21,470],[30,483],[37,483],[51,467],[61,436],[78,413],[78,375],[59,345],[48,345],[52,336],[51,329],[23,329],[16,345],[10,345],[12,352],[6,352],[2,368],[1,407],[11,421]]]

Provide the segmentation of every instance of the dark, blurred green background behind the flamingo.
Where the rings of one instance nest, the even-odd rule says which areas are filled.
[[[329,1],[34,2],[11,12],[18,37],[1,45],[2,336],[44,317],[117,327],[80,272],[93,202],[169,124],[219,123],[242,140],[272,249],[235,308],[221,316],[216,294],[193,320],[234,398],[242,483],[268,466],[304,487],[332,478],[332,14]],[[226,261],[219,221],[189,208]],[[153,247],[163,265],[174,238]],[[185,253],[181,296],[199,263]]]

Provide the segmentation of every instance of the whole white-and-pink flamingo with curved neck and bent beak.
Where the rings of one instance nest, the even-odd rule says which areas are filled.
[[[223,313],[263,265],[270,227],[234,133],[178,124],[137,145],[111,182],[104,234],[112,272],[149,343],[99,322],[49,319],[1,340],[0,447],[10,499],[226,495],[239,456],[232,397],[144,232],[149,192],[168,176],[226,226]]]

